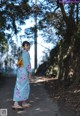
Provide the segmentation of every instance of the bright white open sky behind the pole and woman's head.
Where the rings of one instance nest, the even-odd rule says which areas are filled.
[[[21,26],[22,31],[18,34],[18,40],[16,40],[15,36],[12,38],[18,46],[21,46],[20,35],[24,35],[24,29],[26,27],[29,28],[33,25],[34,25],[34,21],[27,20],[26,24]],[[25,40],[29,41],[28,38],[21,39],[22,42]],[[44,42],[44,40],[41,36],[38,36],[37,43],[38,43],[37,44],[37,55],[38,55],[37,56],[37,61],[38,61],[37,64],[39,66],[42,63],[42,60],[45,59],[44,52],[47,52],[47,54],[49,55],[47,49],[51,50],[53,48],[53,44]],[[31,67],[34,68],[34,44],[31,45],[29,53],[30,53],[30,58],[31,58]]]

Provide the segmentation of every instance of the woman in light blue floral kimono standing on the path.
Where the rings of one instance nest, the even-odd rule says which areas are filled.
[[[29,78],[31,78],[31,64],[30,55],[28,52],[30,49],[30,43],[24,41],[22,47],[23,50],[21,53],[21,61],[19,61],[17,64],[18,70],[13,95],[13,109],[23,109],[30,106],[30,104],[26,103],[30,93]],[[22,102],[22,105],[19,105],[19,102]]]

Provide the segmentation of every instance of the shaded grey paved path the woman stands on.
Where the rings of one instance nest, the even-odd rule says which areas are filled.
[[[0,86],[0,108],[7,109],[8,116],[76,116],[76,113],[62,104],[58,104],[53,100],[45,89],[45,81],[40,82],[39,77],[33,77],[31,83],[31,93],[28,102],[32,107],[26,108],[24,111],[14,111],[11,106],[13,104],[12,96],[16,80],[16,75],[6,74],[3,78],[3,84]],[[36,80],[37,79],[37,80]]]

